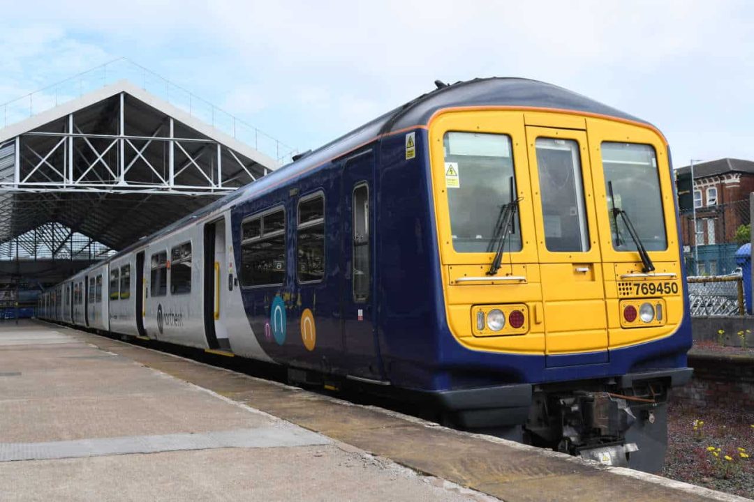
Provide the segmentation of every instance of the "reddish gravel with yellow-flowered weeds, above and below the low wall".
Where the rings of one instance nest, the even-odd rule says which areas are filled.
[[[716,344],[695,345],[692,350],[703,353],[754,354],[752,349],[744,351]],[[741,454],[750,457],[743,458]],[[731,460],[726,460],[725,455]],[[663,476],[754,498],[752,410],[711,407],[700,409],[685,403],[670,403],[668,449]]]

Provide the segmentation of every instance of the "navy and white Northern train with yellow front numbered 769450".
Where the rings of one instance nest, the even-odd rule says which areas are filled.
[[[437,81],[49,288],[38,317],[658,471],[691,377],[681,252],[656,127],[540,81]]]

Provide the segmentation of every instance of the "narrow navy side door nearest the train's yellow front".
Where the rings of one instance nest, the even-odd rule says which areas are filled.
[[[371,150],[346,160],[343,167],[341,323],[351,376],[382,379],[373,307],[373,172]]]

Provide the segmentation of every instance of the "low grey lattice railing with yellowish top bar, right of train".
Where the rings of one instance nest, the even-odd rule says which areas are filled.
[[[743,278],[740,275],[688,278],[691,316],[745,315]]]

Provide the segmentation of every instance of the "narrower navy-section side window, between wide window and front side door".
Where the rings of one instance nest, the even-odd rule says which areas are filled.
[[[317,195],[299,202],[296,239],[299,282],[319,281],[325,275],[325,199]]]

